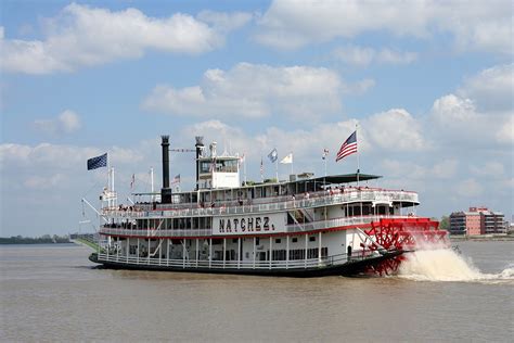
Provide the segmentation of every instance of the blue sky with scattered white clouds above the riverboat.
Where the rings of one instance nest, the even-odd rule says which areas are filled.
[[[160,135],[246,156],[248,180],[383,176],[417,214],[514,208],[510,1],[0,3],[0,236],[92,231],[108,152],[118,201],[162,186]],[[335,162],[358,125],[356,154]],[[291,166],[281,165],[285,179]],[[192,153],[170,174],[194,187]],[[136,177],[130,187],[132,175]],[[29,216],[27,219],[26,216]],[[91,220],[90,224],[79,224]]]

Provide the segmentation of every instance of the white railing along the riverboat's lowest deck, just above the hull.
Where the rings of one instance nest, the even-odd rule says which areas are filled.
[[[123,256],[116,254],[98,254],[99,262],[115,262],[137,266],[160,266],[183,269],[209,268],[209,269],[307,269],[338,266],[349,262],[364,261],[378,256],[378,252],[356,250],[348,256],[338,254],[321,258],[305,258],[290,261],[208,261],[208,259],[171,259],[155,257]]]

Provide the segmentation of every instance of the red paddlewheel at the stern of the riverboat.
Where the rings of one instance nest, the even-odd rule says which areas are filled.
[[[439,223],[429,218],[384,218],[371,223],[371,228],[364,232],[368,236],[367,241],[361,243],[364,253],[384,250],[407,253],[434,246],[450,246],[448,232],[439,230]],[[368,272],[380,276],[394,275],[406,258],[404,254],[400,254],[385,259],[370,267]]]

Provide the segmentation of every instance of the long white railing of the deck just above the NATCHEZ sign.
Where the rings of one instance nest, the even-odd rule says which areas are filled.
[[[283,196],[282,196],[283,198]],[[288,196],[287,201],[270,202],[262,204],[243,204],[233,205],[233,202],[217,203],[216,207],[197,207],[197,208],[162,208],[155,211],[129,211],[119,208],[103,208],[103,215],[108,217],[127,217],[127,218],[163,218],[163,217],[198,217],[213,215],[240,215],[248,213],[261,212],[279,212],[285,209],[319,207],[344,204],[360,201],[407,201],[417,203],[417,194],[406,191],[386,191],[386,190],[349,190],[345,192],[327,194],[327,192],[318,192],[309,199],[293,200]],[[132,208],[141,208],[138,205]]]

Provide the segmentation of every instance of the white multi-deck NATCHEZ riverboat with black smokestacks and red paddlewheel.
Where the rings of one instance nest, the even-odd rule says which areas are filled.
[[[390,274],[421,242],[445,242],[438,223],[415,215],[412,191],[370,187],[361,174],[259,183],[241,180],[241,157],[196,137],[196,186],[170,187],[162,136],[163,188],[118,204],[104,189],[90,259],[108,268],[290,277]],[[113,182],[114,185],[114,182]]]

